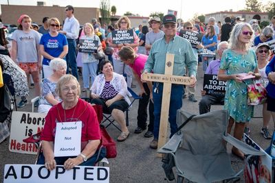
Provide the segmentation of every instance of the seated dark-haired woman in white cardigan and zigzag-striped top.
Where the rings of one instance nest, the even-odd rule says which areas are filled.
[[[129,136],[129,130],[126,127],[124,111],[130,104],[126,81],[123,75],[113,72],[113,66],[109,60],[103,60],[100,63],[100,72],[90,89],[91,103],[101,105],[103,112],[111,114],[120,124],[122,132],[117,141],[125,141]]]

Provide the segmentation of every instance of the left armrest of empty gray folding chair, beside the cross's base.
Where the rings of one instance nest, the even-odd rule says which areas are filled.
[[[179,144],[181,143],[181,138],[181,132],[174,134],[164,146],[157,150],[157,152],[162,154],[175,153],[179,147]]]

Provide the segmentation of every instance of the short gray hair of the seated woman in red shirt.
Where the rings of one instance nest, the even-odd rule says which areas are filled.
[[[59,80],[58,82],[56,83],[56,93],[59,97],[61,97],[61,87],[64,85],[64,84],[67,84],[67,83],[70,83],[70,82],[76,82],[76,87],[78,88],[77,89],[77,96],[79,97],[80,96],[80,84],[78,82],[78,80],[76,79],[76,77],[74,77],[74,75],[70,75],[70,74],[65,74],[63,75]],[[62,98],[61,98],[62,99]]]

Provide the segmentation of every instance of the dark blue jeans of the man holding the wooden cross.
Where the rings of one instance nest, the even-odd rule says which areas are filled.
[[[158,91],[155,92],[157,83],[154,83],[153,86],[153,101],[154,101],[154,138],[159,138],[159,122],[160,114],[162,112],[162,90],[163,84],[159,83]],[[169,118],[170,123],[170,138],[177,132],[177,110],[182,106],[182,93],[184,86],[179,84],[172,84],[171,93],[170,93],[170,107],[169,107]]]

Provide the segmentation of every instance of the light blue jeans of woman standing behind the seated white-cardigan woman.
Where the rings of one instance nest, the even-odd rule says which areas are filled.
[[[98,62],[83,63],[83,86],[89,88],[89,78],[91,77],[91,85],[96,78],[96,69],[98,69]]]

